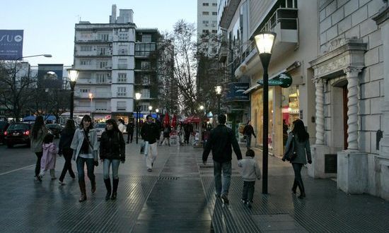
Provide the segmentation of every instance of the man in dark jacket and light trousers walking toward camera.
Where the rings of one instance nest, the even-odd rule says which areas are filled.
[[[151,172],[153,163],[158,155],[159,127],[153,122],[153,117],[147,115],[146,124],[141,128],[141,137],[144,140],[144,156],[146,156],[147,171]],[[150,152],[150,153],[149,153]]]

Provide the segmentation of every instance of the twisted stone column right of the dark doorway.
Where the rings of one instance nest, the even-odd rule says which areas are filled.
[[[359,112],[359,77],[358,73],[361,72],[361,68],[348,67],[345,68],[344,73],[346,73],[347,78],[347,150],[358,150],[358,112]]]

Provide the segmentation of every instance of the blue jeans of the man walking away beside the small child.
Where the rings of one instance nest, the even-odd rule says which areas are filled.
[[[216,195],[228,195],[228,190],[230,189],[231,184],[231,169],[231,161],[214,161],[214,179]],[[223,171],[223,179],[221,179],[221,171]]]

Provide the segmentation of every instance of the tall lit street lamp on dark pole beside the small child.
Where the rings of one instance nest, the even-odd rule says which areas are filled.
[[[263,134],[262,134],[262,193],[267,194],[267,163],[269,156],[268,131],[269,131],[269,75],[267,68],[269,67],[270,58],[272,57],[272,49],[276,33],[260,32],[254,37],[257,52],[260,55],[260,60],[263,67]]]

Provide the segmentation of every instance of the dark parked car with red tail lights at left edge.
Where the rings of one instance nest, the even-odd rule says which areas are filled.
[[[16,144],[25,144],[30,146],[30,133],[32,124],[28,123],[12,123],[4,132],[4,141],[8,148],[12,148]]]

